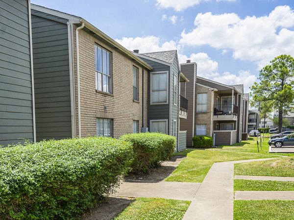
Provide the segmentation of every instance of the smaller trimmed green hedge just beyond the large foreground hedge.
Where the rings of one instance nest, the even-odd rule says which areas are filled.
[[[134,151],[132,173],[146,173],[168,160],[175,149],[175,138],[162,133],[125,134],[121,140],[131,142]]]

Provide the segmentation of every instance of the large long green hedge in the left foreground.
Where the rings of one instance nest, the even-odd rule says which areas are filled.
[[[0,219],[75,219],[113,192],[131,162],[131,145],[112,138],[0,148]]]

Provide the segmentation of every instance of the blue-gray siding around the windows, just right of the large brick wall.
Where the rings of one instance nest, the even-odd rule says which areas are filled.
[[[153,67],[152,72],[159,72],[159,71],[168,71],[169,72],[169,82],[170,82],[170,66],[157,63],[145,58],[140,57],[143,61]],[[169,85],[170,87],[171,85]],[[170,88],[168,88],[170,90]],[[162,105],[150,105],[150,75],[148,75],[148,107],[147,107],[147,126],[150,128],[150,120],[160,120],[160,119],[168,119],[168,126],[170,126],[170,103],[169,104],[162,104]],[[170,100],[170,97],[168,97]]]

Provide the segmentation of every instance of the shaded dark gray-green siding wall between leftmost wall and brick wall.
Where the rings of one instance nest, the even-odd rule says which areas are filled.
[[[72,137],[68,27],[51,17],[32,10],[37,141]]]

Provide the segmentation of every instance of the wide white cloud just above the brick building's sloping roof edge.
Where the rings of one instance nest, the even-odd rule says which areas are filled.
[[[174,41],[167,41],[161,43],[159,37],[155,36],[144,36],[144,37],[123,37],[122,39],[115,39],[118,43],[123,45],[126,49],[133,51],[134,49],[139,49],[140,53],[154,52],[154,51],[164,51],[172,49],[180,49],[181,47]]]

